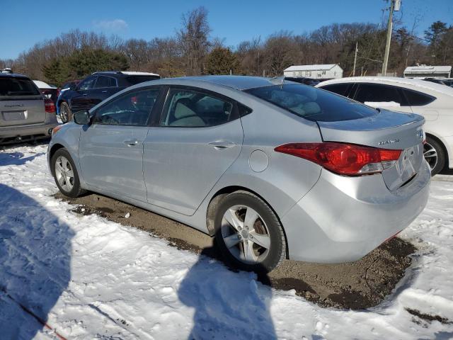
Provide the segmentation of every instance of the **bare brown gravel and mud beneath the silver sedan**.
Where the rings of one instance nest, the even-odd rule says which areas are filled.
[[[169,244],[200,254],[212,247],[212,238],[179,222],[105,196],[57,198],[78,205],[74,212],[98,214],[122,225],[131,225],[168,240]],[[128,218],[127,213],[130,214]],[[415,247],[394,238],[374,249],[360,261],[340,264],[306,263],[286,260],[263,283],[296,294],[323,307],[361,310],[378,305],[395,288],[411,265]],[[218,254],[209,254],[219,258]]]

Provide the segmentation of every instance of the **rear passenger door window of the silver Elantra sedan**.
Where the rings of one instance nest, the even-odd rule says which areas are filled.
[[[200,128],[228,122],[233,104],[197,91],[171,89],[161,125]]]

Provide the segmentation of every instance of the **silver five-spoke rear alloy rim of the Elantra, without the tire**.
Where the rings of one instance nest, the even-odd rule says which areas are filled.
[[[258,212],[246,205],[234,205],[226,210],[221,232],[226,248],[243,263],[260,263],[269,254],[268,227]]]

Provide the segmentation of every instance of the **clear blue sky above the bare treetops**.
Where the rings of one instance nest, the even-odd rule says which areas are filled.
[[[382,22],[384,0],[0,0],[0,58],[15,58],[36,42],[74,28],[122,38],[174,35],[182,13],[197,6],[209,11],[212,37],[226,45],[265,38],[278,30],[304,33],[331,23]],[[453,25],[453,0],[403,0],[396,14],[418,35],[433,21]]]

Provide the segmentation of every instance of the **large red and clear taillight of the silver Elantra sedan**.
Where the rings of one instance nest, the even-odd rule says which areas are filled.
[[[291,143],[280,145],[275,151],[307,159],[336,174],[348,176],[381,172],[394,165],[401,154],[401,150],[338,142]]]

